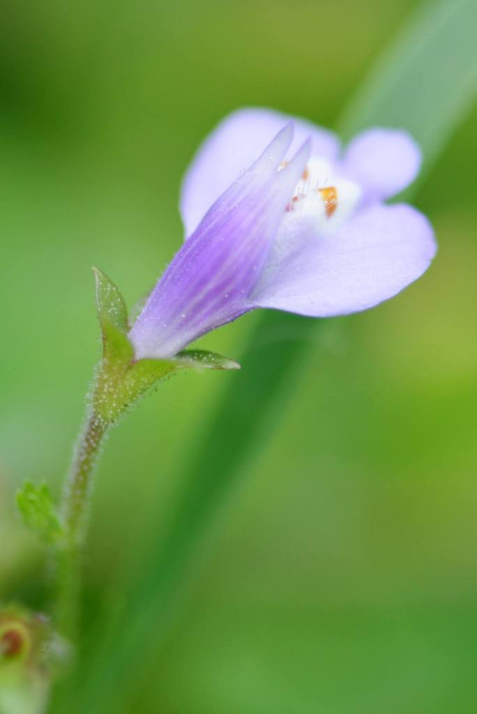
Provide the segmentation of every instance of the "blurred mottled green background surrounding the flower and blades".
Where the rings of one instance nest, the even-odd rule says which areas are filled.
[[[258,105],[333,126],[417,5],[4,7],[1,599],[49,598],[14,491],[25,478],[59,488],[69,461],[99,356],[91,266],[132,305],[181,242],[179,183],[214,124]],[[414,201],[436,228],[436,262],[393,301],[317,333],[201,545],[156,660],[115,712],[476,710],[476,118],[463,118]],[[258,318],[201,345],[240,359]],[[240,375],[181,374],[112,433],[86,561],[88,641],[151,558],[231,379],[239,390]]]

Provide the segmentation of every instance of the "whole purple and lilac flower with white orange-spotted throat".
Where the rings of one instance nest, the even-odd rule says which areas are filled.
[[[231,114],[184,179],[188,237],[129,333],[136,357],[171,357],[254,308],[328,317],[396,295],[436,252],[421,213],[384,203],[420,164],[403,131],[369,129],[341,150],[303,119]]]

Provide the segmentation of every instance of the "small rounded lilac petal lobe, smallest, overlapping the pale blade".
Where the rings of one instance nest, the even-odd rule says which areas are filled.
[[[356,181],[368,201],[391,198],[411,183],[421,167],[421,151],[406,131],[368,129],[348,144],[343,173]]]

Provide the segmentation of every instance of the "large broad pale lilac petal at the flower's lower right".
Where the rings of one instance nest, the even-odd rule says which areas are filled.
[[[306,222],[251,295],[257,307],[314,317],[346,315],[396,295],[426,271],[435,252],[427,219],[404,203],[375,205],[335,233],[309,238]]]

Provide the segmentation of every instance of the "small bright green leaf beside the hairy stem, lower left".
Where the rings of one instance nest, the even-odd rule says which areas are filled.
[[[25,525],[35,531],[46,543],[54,543],[63,535],[56,506],[46,483],[34,486],[26,481],[16,493],[16,505]]]

